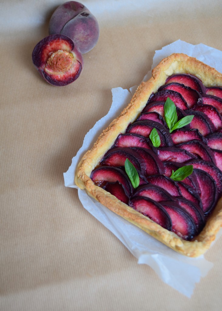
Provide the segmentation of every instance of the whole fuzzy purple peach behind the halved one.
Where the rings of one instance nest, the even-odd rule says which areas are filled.
[[[49,34],[66,35],[81,53],[87,53],[99,39],[99,24],[83,4],[69,1],[53,13],[49,21]]]

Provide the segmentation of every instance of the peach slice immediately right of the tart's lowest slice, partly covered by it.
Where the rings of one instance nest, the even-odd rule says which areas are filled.
[[[176,200],[180,207],[184,208],[192,217],[197,228],[195,235],[199,234],[205,225],[205,218],[201,208],[184,197],[178,197]]]

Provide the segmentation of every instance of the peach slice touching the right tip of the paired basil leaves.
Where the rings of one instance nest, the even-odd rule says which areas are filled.
[[[215,132],[215,126],[206,114],[192,109],[185,110],[185,112],[187,115],[194,115],[190,123],[190,128],[197,128],[203,136]]]

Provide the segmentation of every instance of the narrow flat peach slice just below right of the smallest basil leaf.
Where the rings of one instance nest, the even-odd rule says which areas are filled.
[[[183,163],[190,159],[196,158],[194,155],[184,149],[177,147],[163,147],[156,151],[158,158],[161,161],[170,161]]]

